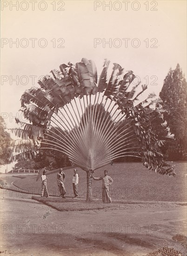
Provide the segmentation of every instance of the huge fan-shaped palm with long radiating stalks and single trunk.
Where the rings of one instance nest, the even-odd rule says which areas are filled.
[[[162,117],[160,100],[149,94],[140,102],[147,86],[135,84],[133,71],[124,72],[117,63],[108,79],[108,66],[105,60],[98,81],[94,62],[85,58],[51,70],[38,82],[40,87],[22,94],[20,110],[30,123],[16,119],[20,127],[13,129],[21,138],[14,143],[13,160],[33,158],[41,142],[67,154],[87,173],[87,201],[92,200],[93,171],[116,158],[137,157],[157,173],[175,175],[159,149],[169,137],[167,127],[161,137],[149,119],[152,112]]]

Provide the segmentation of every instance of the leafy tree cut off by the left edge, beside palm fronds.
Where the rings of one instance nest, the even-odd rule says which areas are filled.
[[[10,134],[6,131],[6,124],[2,116],[0,116],[0,165],[5,165],[11,162],[10,156]]]

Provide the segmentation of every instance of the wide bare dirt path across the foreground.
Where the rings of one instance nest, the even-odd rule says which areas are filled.
[[[185,235],[186,207],[59,212],[1,189],[1,255],[143,256]],[[27,196],[27,197],[26,197]]]

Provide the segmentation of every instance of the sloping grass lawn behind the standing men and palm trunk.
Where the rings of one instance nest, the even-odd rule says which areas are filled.
[[[112,200],[134,201],[187,201],[187,163],[175,162],[176,177],[159,175],[143,167],[142,163],[116,163],[108,165],[94,172],[94,176],[103,175],[107,169],[108,175],[114,180],[110,187]],[[86,172],[78,168],[78,192],[81,198],[86,198]],[[66,197],[73,196],[73,170],[65,171],[67,190]],[[13,183],[20,189],[25,189],[33,195],[40,194],[41,180],[36,182],[37,175],[28,175],[24,179],[16,179]],[[49,195],[58,196],[57,174],[48,175],[47,188]],[[93,181],[93,199],[101,199],[102,181]]]

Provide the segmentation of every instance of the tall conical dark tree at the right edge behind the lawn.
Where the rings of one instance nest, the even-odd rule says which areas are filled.
[[[175,141],[169,143],[168,154],[172,160],[187,158],[187,82],[179,64],[169,70],[160,92],[164,118],[174,134]]]

